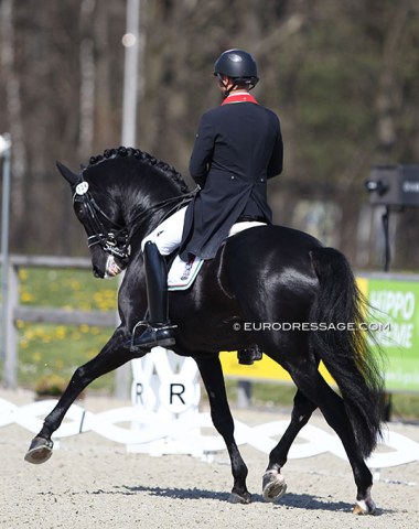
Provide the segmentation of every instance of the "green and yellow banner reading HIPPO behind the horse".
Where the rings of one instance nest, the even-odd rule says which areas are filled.
[[[357,283],[373,307],[365,324],[387,358],[386,390],[419,391],[419,277],[365,274],[357,278]],[[253,366],[238,364],[236,353],[223,352],[221,360],[229,378],[292,384],[288,373],[266,355]],[[320,371],[329,384],[334,384],[323,364]]]

